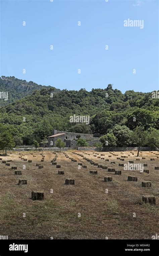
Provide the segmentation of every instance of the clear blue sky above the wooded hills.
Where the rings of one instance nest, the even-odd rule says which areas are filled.
[[[158,0],[0,2],[0,75],[68,90],[159,89]],[[124,27],[127,19],[144,28]]]

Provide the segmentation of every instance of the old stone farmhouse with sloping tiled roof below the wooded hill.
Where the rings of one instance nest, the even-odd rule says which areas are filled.
[[[40,143],[40,147],[54,148],[56,147],[56,140],[60,138],[63,142],[65,142],[65,147],[76,148],[77,147],[76,140],[79,135],[82,139],[87,140],[87,143],[89,146],[94,146],[95,142],[99,142],[99,134],[94,135],[94,134],[53,130],[52,135],[48,136],[48,140],[44,143],[44,145],[42,142]]]

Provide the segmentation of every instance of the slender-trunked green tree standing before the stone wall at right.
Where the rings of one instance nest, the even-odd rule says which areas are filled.
[[[135,130],[133,131],[132,134],[132,141],[137,145],[138,147],[138,154],[137,157],[139,156],[139,151],[142,146],[144,146],[147,142],[148,138],[148,132],[145,131],[143,126],[137,126]]]

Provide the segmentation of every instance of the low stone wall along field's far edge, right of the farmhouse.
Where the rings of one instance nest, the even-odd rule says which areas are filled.
[[[99,151],[99,152],[109,152],[109,151],[133,151],[138,150],[138,147],[121,147],[121,148],[78,148],[79,151]],[[151,148],[151,147],[141,147],[140,151],[157,151],[158,148]]]

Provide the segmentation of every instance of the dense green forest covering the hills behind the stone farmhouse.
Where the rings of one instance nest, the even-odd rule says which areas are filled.
[[[105,89],[59,90],[15,77],[2,77],[0,131],[9,131],[16,144],[32,145],[52,134],[53,129],[79,133],[113,134],[117,146],[132,145],[130,135],[137,126],[145,131],[159,128],[159,99],[152,93],[126,91],[109,84]],[[11,103],[10,103],[11,102]],[[90,123],[70,123],[70,116],[90,116]],[[18,143],[19,142],[19,143]]]

